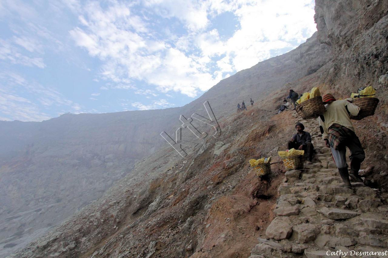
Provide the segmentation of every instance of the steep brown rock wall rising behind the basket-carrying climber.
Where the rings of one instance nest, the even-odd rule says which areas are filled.
[[[375,115],[353,121],[373,187],[386,188],[388,175],[388,1],[315,0],[317,39],[333,56],[320,70],[321,92],[349,98],[365,86],[377,90]],[[384,189],[383,189],[384,190]]]

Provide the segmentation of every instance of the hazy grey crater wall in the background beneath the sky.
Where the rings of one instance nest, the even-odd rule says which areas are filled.
[[[0,255],[101,197],[137,160],[166,144],[159,134],[172,135],[181,114],[205,115],[203,103],[209,101],[217,119],[225,118],[235,112],[236,102],[252,97],[258,103],[273,89],[314,73],[329,61],[328,53],[314,34],[295,50],[220,81],[180,108],[0,121]]]

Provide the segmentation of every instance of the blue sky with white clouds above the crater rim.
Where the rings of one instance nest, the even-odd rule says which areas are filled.
[[[0,0],[0,120],[180,107],[315,31],[314,0]]]

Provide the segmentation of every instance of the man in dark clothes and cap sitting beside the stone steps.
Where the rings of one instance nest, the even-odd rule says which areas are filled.
[[[304,150],[305,157],[307,157],[307,164],[312,164],[313,154],[315,152],[314,146],[311,143],[311,135],[305,132],[305,126],[302,123],[295,125],[296,134],[294,134],[291,140],[288,142],[288,150],[294,148],[295,150]]]

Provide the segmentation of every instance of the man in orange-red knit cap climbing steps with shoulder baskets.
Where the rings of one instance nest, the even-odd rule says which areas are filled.
[[[319,129],[326,146],[331,149],[343,186],[351,188],[349,176],[354,182],[363,182],[359,170],[365,152],[350,121],[350,116],[358,115],[360,108],[348,100],[336,100],[331,94],[322,96],[322,101],[327,111],[319,116]],[[346,163],[346,147],[350,150],[350,174]]]

